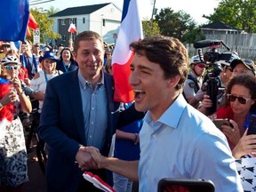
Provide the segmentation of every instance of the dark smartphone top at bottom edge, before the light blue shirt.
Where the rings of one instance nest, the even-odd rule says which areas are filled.
[[[214,192],[212,180],[164,178],[158,182],[157,192]]]

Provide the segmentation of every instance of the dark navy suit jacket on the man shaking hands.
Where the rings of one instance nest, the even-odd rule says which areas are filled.
[[[54,77],[46,87],[38,132],[50,146],[46,166],[48,191],[76,191],[82,179],[83,172],[75,164],[78,148],[86,143],[77,71]],[[113,101],[113,77],[106,73],[104,77],[108,94],[108,132],[105,148],[100,153],[108,156],[111,138],[116,132],[119,103]]]

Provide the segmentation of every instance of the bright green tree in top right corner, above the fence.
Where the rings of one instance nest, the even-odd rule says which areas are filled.
[[[220,20],[229,26],[256,33],[255,0],[221,0],[214,12],[204,18],[209,22]]]

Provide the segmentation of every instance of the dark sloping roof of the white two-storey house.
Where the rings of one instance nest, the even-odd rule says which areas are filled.
[[[111,3],[108,3],[108,4],[111,4]],[[60,12],[56,12],[55,14],[50,15],[50,17],[63,17],[63,16],[69,16],[69,15],[91,14],[92,12],[95,12],[101,9],[102,7],[108,4],[92,4],[92,5],[79,6],[79,7],[70,7]]]

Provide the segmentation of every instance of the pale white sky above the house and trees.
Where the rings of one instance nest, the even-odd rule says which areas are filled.
[[[32,2],[33,0],[31,0]],[[31,5],[30,8],[43,7],[48,9],[53,6],[64,10],[68,7],[84,6],[90,4],[105,4],[105,3],[114,3],[121,10],[123,9],[123,0],[55,0],[53,2]],[[202,16],[210,15],[214,12],[219,4],[220,0],[156,0],[156,9],[158,12],[163,8],[171,8],[174,12],[184,11],[190,14],[190,16],[196,21],[197,24],[204,24],[207,22]],[[140,14],[143,19],[150,19],[152,15],[152,9],[154,0],[139,0],[140,4]]]

